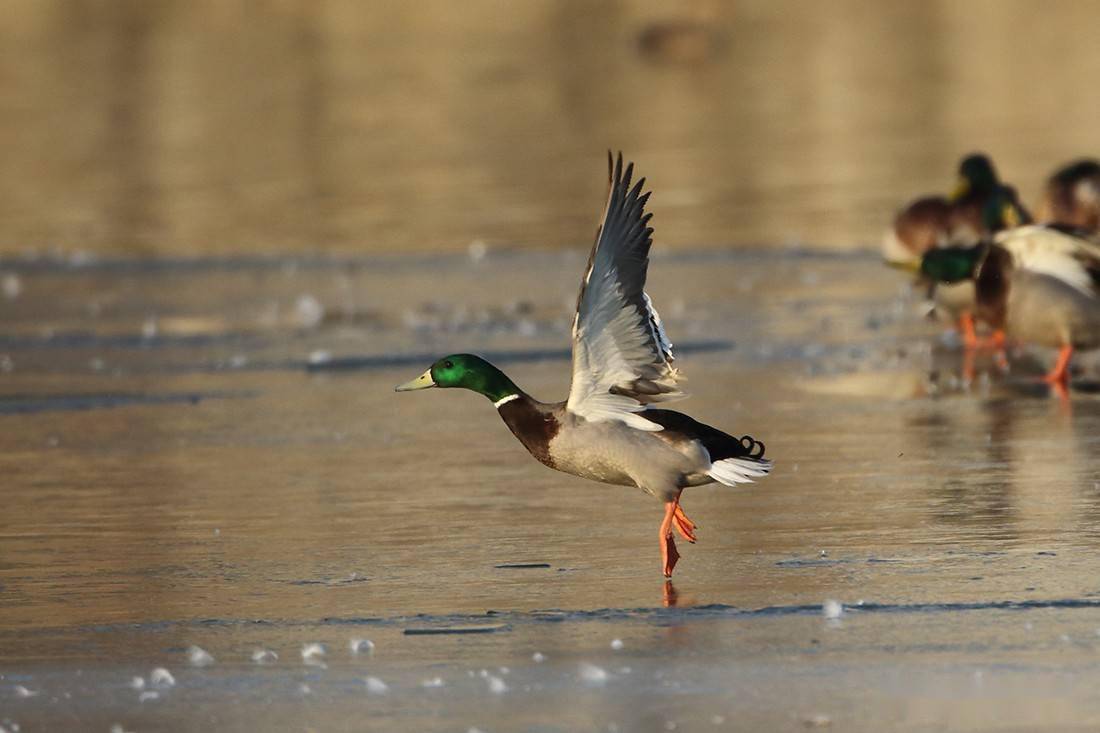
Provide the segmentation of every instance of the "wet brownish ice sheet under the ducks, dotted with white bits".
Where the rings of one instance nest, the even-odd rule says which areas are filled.
[[[564,396],[582,267],[583,252],[4,263],[22,289],[2,397],[52,408],[0,413],[3,715],[139,731],[351,730],[367,711],[486,731],[982,727],[1043,705],[1090,720],[1092,364],[1069,405],[1032,380],[1042,351],[1008,375],[981,357],[967,386],[872,255],[658,258],[649,289],[688,347],[682,408],[778,461],[758,484],[685,494],[700,543],[670,593],[651,499],[546,470],[480,396],[392,392],[473,350]],[[320,319],[300,319],[304,296]],[[405,634],[472,626],[493,631]],[[353,658],[353,637],[375,654]],[[302,664],[315,642],[323,669]],[[217,663],[191,668],[193,645]],[[131,687],[162,666],[170,690]]]

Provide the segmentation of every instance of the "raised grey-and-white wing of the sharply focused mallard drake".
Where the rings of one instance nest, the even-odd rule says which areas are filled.
[[[622,420],[642,430],[661,426],[637,413],[654,402],[686,396],[672,366],[672,344],[646,295],[653,230],[647,227],[645,178],[630,186],[607,154],[610,192],[573,319],[573,384],[565,406],[586,419]]]

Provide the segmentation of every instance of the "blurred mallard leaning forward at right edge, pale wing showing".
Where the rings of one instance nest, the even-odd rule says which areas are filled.
[[[921,272],[972,281],[977,315],[1018,341],[1058,348],[1044,380],[1065,394],[1075,349],[1100,347],[1100,245],[1055,227],[1008,229],[972,247],[932,250]]]

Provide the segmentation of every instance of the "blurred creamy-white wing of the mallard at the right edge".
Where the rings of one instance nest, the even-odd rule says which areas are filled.
[[[993,241],[1012,254],[1016,267],[1056,277],[1096,297],[1096,285],[1082,260],[1100,262],[1100,245],[1042,226],[1010,229]]]

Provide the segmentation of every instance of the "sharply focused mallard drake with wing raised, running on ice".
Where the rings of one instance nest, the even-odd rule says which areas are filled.
[[[647,225],[645,178],[630,185],[634,164],[608,154],[609,194],[588,258],[573,318],[573,381],[569,398],[544,403],[484,359],[443,357],[397,392],[461,387],[485,395],[524,447],[541,463],[585,479],[638,486],[664,503],[659,530],[666,578],[680,558],[675,528],[695,541],[680,505],[686,486],[735,485],[771,470],[765,445],[735,438],[658,403],[685,397],[672,344],[645,292],[653,230]]]

